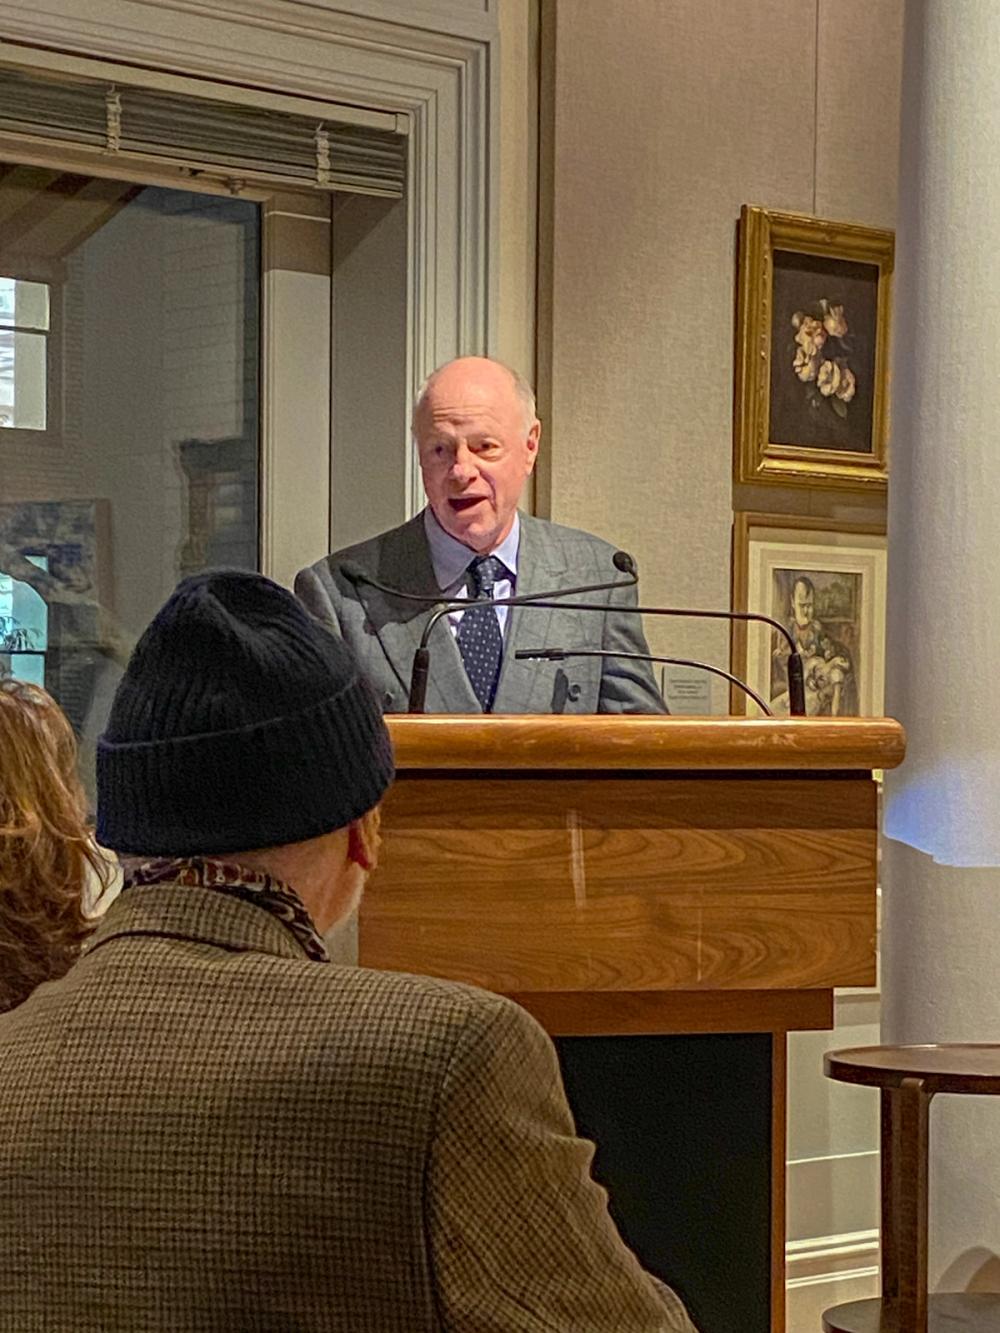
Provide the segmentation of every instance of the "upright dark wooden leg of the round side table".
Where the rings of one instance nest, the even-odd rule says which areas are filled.
[[[881,1290],[887,1333],[927,1333],[927,1148],[932,1093],[881,1093]]]

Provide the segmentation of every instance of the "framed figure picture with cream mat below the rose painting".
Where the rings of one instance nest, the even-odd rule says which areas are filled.
[[[805,670],[811,716],[879,717],[885,670],[885,536],[869,524],[739,513],[733,609],[787,625]],[[733,674],[788,713],[788,645],[768,625],[736,625]],[[745,712],[733,692],[733,712]]]

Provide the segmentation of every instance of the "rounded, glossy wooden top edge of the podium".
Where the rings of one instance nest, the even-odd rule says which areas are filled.
[[[385,718],[405,769],[896,768],[891,717],[661,717],[400,713]]]

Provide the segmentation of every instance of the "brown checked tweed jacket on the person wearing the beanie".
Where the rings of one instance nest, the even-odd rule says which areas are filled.
[[[509,1001],[135,886],[0,1016],[0,1329],[691,1333],[591,1152]]]

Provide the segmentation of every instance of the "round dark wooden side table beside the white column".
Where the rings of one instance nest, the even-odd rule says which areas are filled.
[[[928,1296],[927,1158],[931,1098],[1000,1096],[1000,1042],[831,1050],[824,1069],[881,1089],[881,1298],[835,1305],[824,1333],[999,1333],[1000,1293]]]

